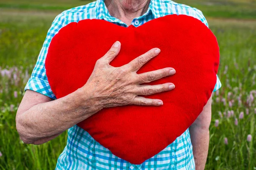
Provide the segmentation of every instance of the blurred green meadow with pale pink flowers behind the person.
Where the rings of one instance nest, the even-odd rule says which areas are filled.
[[[15,114],[47,30],[87,0],[0,0],[0,170],[54,169],[67,133],[23,144]],[[206,170],[256,170],[256,0],[176,0],[200,9],[218,39],[222,87],[213,94]]]

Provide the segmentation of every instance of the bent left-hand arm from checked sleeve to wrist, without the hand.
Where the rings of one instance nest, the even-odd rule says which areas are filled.
[[[90,106],[84,105],[81,107],[79,105],[80,94],[77,92],[55,101],[52,100],[55,96],[49,87],[44,62],[52,37],[66,25],[67,21],[64,13],[55,17],[38,56],[32,76],[25,87],[25,95],[17,110],[16,128],[20,138],[25,143],[41,144],[47,142],[67,128],[75,125],[79,120],[86,119],[87,116],[97,111],[96,103],[90,105],[91,103],[88,102],[89,98],[86,93],[83,94],[83,102]],[[84,111],[81,111],[82,109]],[[72,118],[71,115],[73,116]],[[70,119],[72,121],[66,123]]]

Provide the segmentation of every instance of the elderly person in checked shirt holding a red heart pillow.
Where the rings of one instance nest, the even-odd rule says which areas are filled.
[[[138,96],[146,94],[147,91],[153,90],[154,93],[159,93],[175,88],[172,82],[153,86],[137,83],[175,74],[174,68],[163,68],[144,74],[136,73],[149,59],[157,57],[157,54],[160,53],[160,49],[157,47],[122,67],[108,67],[109,62],[116,57],[121,48],[120,42],[115,42],[111,49],[98,59],[87,83],[77,91],[60,99],[55,98],[45,74],[44,62],[52,37],[68,23],[96,18],[119,26],[133,25],[137,27],[167,14],[186,14],[201,20],[208,26],[201,11],[171,0],[97,0],[59,14],[48,31],[32,76],[25,87],[26,93],[17,111],[16,126],[23,142],[43,144],[68,129],[67,146],[58,158],[57,170],[203,170],[209,146],[212,98],[209,99],[204,110],[189,129],[160,153],[139,165],[131,164],[114,156],[85,130],[76,125],[106,107],[119,105],[153,105],[157,107],[163,105],[164,103],[160,99]],[[106,34],[108,33],[106,32]],[[115,79],[119,71],[124,71],[124,76],[122,79]],[[128,81],[131,78],[135,81]],[[109,81],[115,83],[108,83]],[[119,88],[121,86],[123,88]],[[221,83],[217,77],[214,91],[220,87]],[[128,92],[127,89],[134,90]]]

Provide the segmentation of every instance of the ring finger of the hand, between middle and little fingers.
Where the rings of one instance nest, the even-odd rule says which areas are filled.
[[[140,85],[139,88],[136,88],[134,93],[137,95],[151,95],[160,93],[163,91],[170,91],[175,88],[173,83],[164,83],[161,85]]]

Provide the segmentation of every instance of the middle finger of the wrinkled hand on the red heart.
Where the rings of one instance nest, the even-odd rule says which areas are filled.
[[[149,71],[146,73],[138,74],[137,83],[142,84],[145,82],[152,82],[163,77],[171,76],[175,73],[176,71],[173,68],[163,68],[155,71]]]

